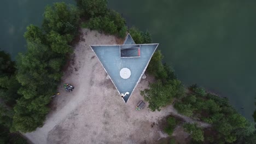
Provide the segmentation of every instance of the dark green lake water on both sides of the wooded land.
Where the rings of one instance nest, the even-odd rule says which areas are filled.
[[[57,1],[2,1],[0,48],[13,58],[25,51],[26,26],[40,25],[45,5],[53,2]],[[123,14],[128,26],[148,29],[153,41],[160,43],[164,61],[185,85],[197,83],[228,97],[242,115],[252,119],[256,1],[109,0],[108,5]]]

